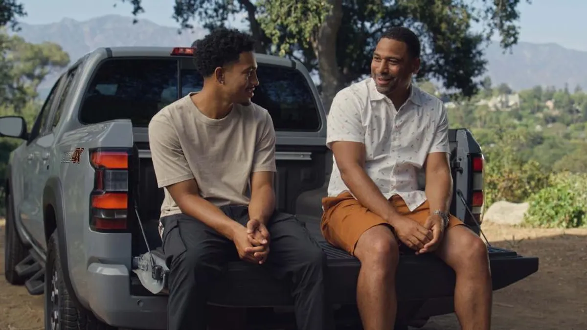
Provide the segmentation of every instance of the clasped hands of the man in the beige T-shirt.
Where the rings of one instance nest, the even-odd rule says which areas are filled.
[[[269,255],[269,231],[262,221],[251,219],[235,234],[234,245],[241,260],[262,265]]]

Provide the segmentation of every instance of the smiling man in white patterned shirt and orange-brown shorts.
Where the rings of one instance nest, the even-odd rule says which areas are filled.
[[[447,113],[440,100],[411,85],[419,57],[417,36],[392,28],[377,43],[371,77],[335,96],[326,142],[335,164],[322,200],[322,233],[361,262],[357,304],[365,330],[393,328],[402,244],[450,265],[462,328],[489,329],[487,248],[448,214],[453,183]],[[420,169],[424,190],[417,184]]]

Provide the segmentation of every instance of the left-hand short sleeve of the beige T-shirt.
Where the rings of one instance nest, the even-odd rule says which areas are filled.
[[[149,146],[159,188],[194,178],[176,129],[162,119],[149,123]]]

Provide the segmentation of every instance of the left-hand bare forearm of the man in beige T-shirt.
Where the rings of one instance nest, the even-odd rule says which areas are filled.
[[[185,196],[181,204],[180,208],[183,213],[197,218],[231,241],[234,240],[235,232],[244,228],[237,221],[224,214],[220,208],[200,196]]]

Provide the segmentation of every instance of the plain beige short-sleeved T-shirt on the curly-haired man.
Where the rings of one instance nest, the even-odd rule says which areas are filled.
[[[275,130],[269,112],[252,103],[234,105],[222,119],[198,110],[190,95],[161,109],[149,123],[149,144],[161,217],[181,213],[167,186],[195,179],[200,195],[216,206],[249,203],[253,172],[276,171]]]

